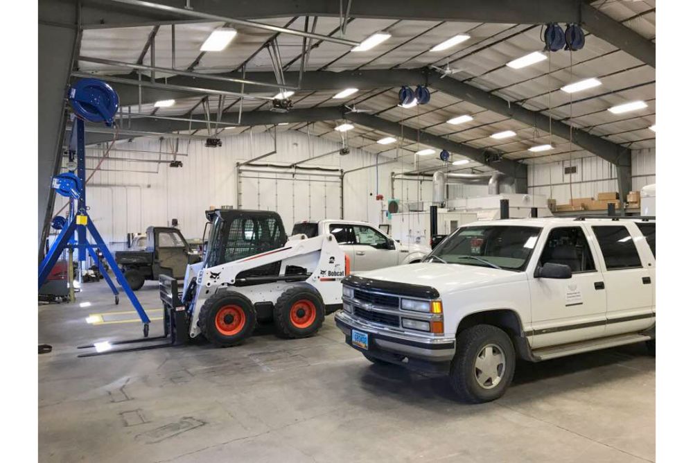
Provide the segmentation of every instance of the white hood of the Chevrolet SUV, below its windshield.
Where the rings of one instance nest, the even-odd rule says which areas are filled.
[[[468,288],[523,281],[525,272],[498,270],[480,265],[459,265],[455,263],[411,263],[396,267],[380,268],[360,272],[359,277],[430,286],[441,295]]]

